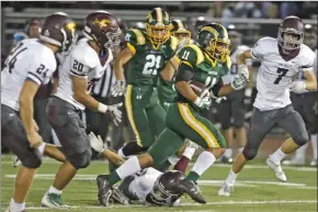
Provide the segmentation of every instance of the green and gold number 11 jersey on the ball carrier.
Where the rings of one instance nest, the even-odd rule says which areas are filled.
[[[229,71],[231,66],[229,57],[227,63],[212,60],[208,55],[204,53],[204,51],[194,44],[183,47],[178,53],[178,57],[181,59],[180,63],[186,64],[193,68],[194,75],[192,77],[192,81],[204,83],[209,89],[222,80],[222,77]],[[192,107],[196,108],[193,102],[185,99],[179,92],[177,93],[177,101],[190,103]]]

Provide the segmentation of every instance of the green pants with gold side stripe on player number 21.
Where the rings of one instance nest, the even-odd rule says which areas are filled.
[[[149,147],[164,129],[166,111],[152,86],[127,86],[125,107],[137,144]]]

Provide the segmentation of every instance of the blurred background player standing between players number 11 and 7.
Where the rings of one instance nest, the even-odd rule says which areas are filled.
[[[238,72],[236,56],[250,49],[248,46],[241,45],[242,35],[235,29],[235,25],[229,25],[227,31],[230,40],[231,67],[230,71],[223,77],[224,85],[230,83]],[[247,59],[246,64],[251,71],[252,59]],[[224,163],[232,163],[234,149],[237,148],[238,152],[241,153],[247,142],[247,132],[245,127],[245,93],[247,89],[236,90],[226,96],[226,99],[220,101],[220,103],[216,104],[223,135],[227,142],[227,148],[222,156],[222,161]]]

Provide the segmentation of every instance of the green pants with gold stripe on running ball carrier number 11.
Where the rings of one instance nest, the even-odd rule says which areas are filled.
[[[225,148],[222,133],[188,103],[173,103],[166,119],[166,129],[149,148],[155,166],[162,164],[189,138],[205,149]]]

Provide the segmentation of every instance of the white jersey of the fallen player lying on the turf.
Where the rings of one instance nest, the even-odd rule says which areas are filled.
[[[151,192],[154,185],[162,172],[155,168],[146,168],[129,185],[129,192],[136,196],[140,202],[146,202],[146,197]]]

